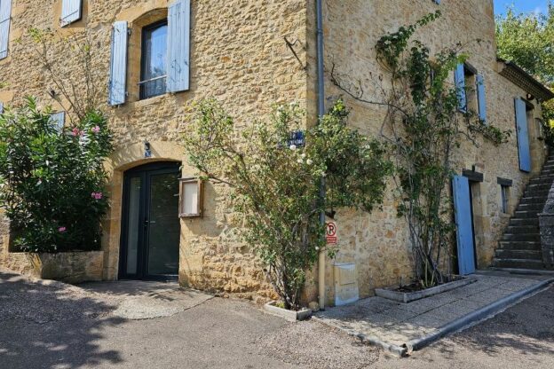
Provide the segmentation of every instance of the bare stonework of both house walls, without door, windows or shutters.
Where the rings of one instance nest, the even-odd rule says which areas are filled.
[[[499,75],[495,57],[495,24],[492,0],[346,0],[324,2],[325,66],[327,93],[330,100],[341,96],[331,83],[329,71],[336,66],[340,73],[370,83],[380,74],[374,45],[385,32],[413,23],[428,12],[441,9],[444,16],[425,27],[417,37],[429,43],[433,51],[455,43],[467,43],[471,65],[485,76],[487,110],[490,121],[504,130],[513,130],[513,98],[525,97],[526,90]],[[110,60],[111,26],[115,20],[127,20],[131,29],[128,65],[129,99],[118,107],[104,106],[115,133],[116,149],[107,162],[111,174],[107,189],[111,209],[105,221],[104,279],[118,276],[122,224],[123,173],[149,161],[181,161],[186,163],[179,140],[191,120],[194,103],[215,97],[237,122],[249,124],[265,116],[273,103],[297,101],[307,111],[307,124],[316,121],[316,51],[314,0],[229,0],[226,2],[192,1],[191,87],[186,92],[165,94],[139,100],[140,28],[167,14],[168,0],[84,0],[83,20],[69,27],[59,27],[61,0],[36,2],[12,0],[10,53],[0,60],[0,101],[19,104],[25,95],[40,98],[44,106],[61,109],[64,101],[52,99],[47,79],[36,62],[32,41],[26,36],[28,27],[57,30],[60,35],[88,35],[95,47],[99,85],[107,86]],[[285,41],[289,41],[289,48]],[[477,43],[476,39],[482,41]],[[74,73],[71,56],[50,51]],[[296,53],[296,55],[295,55]],[[105,92],[107,99],[107,90]],[[383,112],[346,98],[352,107],[351,123],[368,135],[377,136]],[[536,102],[536,101],[535,101]],[[531,113],[534,122],[540,116],[535,104]],[[531,118],[531,117],[530,117]],[[457,156],[457,168],[475,169],[485,175],[474,184],[475,226],[479,267],[492,260],[496,240],[510,215],[500,209],[500,187],[496,177],[513,180],[510,207],[514,208],[529,177],[540,167],[544,147],[540,131],[530,129],[533,173],[518,170],[516,135],[510,143],[495,147],[479,142],[479,147],[464,144]],[[144,141],[151,145],[153,157],[145,159]],[[194,170],[183,167],[183,177]],[[237,220],[229,208],[226,188],[206,185],[205,213],[202,218],[181,220],[179,279],[181,283],[210,291],[222,291],[243,297],[274,297],[265,281],[261,265],[248,245],[241,244],[234,229]],[[335,297],[334,263],[355,263],[360,296],[373,294],[376,287],[397,284],[411,276],[408,229],[397,217],[392,191],[387,193],[383,211],[371,215],[342,211],[339,224],[341,251],[335,261],[327,263],[327,296]],[[0,232],[7,234],[4,222]],[[20,255],[8,252],[4,237],[0,248],[0,265],[15,268]],[[313,276],[317,276],[314,273]],[[317,298],[317,280],[309,280],[305,300]]]

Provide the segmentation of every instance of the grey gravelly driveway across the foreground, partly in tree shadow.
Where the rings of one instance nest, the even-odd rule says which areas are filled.
[[[175,289],[170,299],[145,296],[162,299],[164,309],[191,298]],[[135,320],[115,314],[123,297],[0,273],[0,368],[554,367],[554,288],[404,359],[315,321],[266,315],[250,302],[202,299],[170,316]]]

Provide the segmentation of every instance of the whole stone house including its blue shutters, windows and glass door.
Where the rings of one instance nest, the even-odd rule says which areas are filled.
[[[200,289],[273,297],[256,256],[233,232],[237,220],[225,186],[198,185],[179,141],[194,103],[209,97],[218,98],[243,124],[268,114],[276,102],[291,101],[307,111],[306,124],[316,122],[316,3],[0,0],[4,106],[17,105],[28,94],[59,113],[67,105],[59,94],[51,93],[44,70],[34,61],[28,28],[50,28],[60,37],[91,40],[116,143],[107,162],[111,208],[104,224],[101,279],[178,278]],[[526,183],[542,168],[546,150],[538,100],[552,98],[531,76],[496,59],[493,1],[324,2],[324,98],[343,95],[330,80],[332,67],[370,81],[380,73],[376,40],[439,9],[443,16],[418,32],[417,38],[432,51],[467,44],[470,59],[458,68],[458,82],[475,85],[479,79],[484,86],[468,103],[476,110],[480,107],[487,122],[503,130],[515,132],[519,114],[519,127],[527,130],[528,143],[522,135],[512,134],[508,144],[498,147],[486,141],[463,145],[456,157],[458,174],[470,179],[472,224],[466,228],[474,236],[472,251],[477,267],[486,268]],[[61,46],[48,52],[67,74],[79,72],[75,58]],[[384,112],[352,98],[345,101],[352,108],[351,124],[378,136]],[[187,198],[179,208],[180,189],[186,193],[202,189],[202,197]],[[194,201],[202,199],[202,214],[197,214],[200,207]],[[320,281],[328,303],[368,296],[376,287],[410,278],[408,228],[396,215],[392,192],[383,211],[371,215],[341,211],[336,222],[340,252],[335,260],[327,260]],[[25,256],[11,250],[9,224],[4,222],[0,232],[4,234],[0,266],[27,271]],[[306,301],[317,299],[318,282],[313,273]]]

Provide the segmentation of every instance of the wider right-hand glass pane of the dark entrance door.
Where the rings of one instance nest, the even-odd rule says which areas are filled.
[[[149,275],[178,274],[178,177],[176,173],[150,177]]]

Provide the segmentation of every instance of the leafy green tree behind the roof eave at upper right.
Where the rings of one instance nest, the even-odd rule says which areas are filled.
[[[546,14],[516,14],[508,9],[496,19],[498,55],[514,61],[539,81],[554,89],[554,4]],[[542,104],[547,142],[554,145],[554,102]]]

